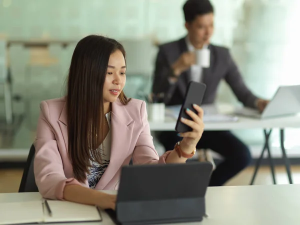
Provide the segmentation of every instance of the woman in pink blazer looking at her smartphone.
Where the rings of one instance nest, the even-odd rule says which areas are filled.
[[[193,130],[159,158],[145,102],[122,91],[125,70],[125,51],[116,40],[89,35],[76,45],[66,96],[40,104],[34,175],[43,197],[114,208],[116,196],[96,190],[116,189],[121,166],[131,158],[135,164],[183,163],[194,152],[202,109],[187,109],[193,121],[182,122]]]

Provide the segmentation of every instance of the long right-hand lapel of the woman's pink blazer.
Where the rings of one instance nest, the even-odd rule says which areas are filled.
[[[119,100],[111,105],[111,149],[110,162],[96,185],[103,189],[122,166],[130,147],[134,120]]]

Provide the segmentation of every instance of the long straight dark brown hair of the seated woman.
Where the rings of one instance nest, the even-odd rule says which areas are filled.
[[[97,153],[104,127],[103,85],[109,56],[123,46],[114,39],[89,35],[76,45],[67,78],[67,132],[68,156],[73,167],[73,176],[80,182],[86,179],[89,159],[101,163]],[[123,91],[119,100],[126,105],[130,99]]]

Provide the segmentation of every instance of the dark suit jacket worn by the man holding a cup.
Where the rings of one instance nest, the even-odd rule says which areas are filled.
[[[210,49],[210,67],[203,68],[201,80],[199,80],[206,84],[202,103],[213,103],[218,84],[221,79],[225,79],[239,101],[245,106],[255,107],[257,97],[246,87],[229,50],[212,44],[208,48]],[[185,51],[187,51],[187,46],[184,38],[159,46],[152,91],[154,94],[163,92],[166,105],[183,102],[190,80],[190,69],[182,72],[175,84],[170,84],[168,77],[172,72],[171,64]]]

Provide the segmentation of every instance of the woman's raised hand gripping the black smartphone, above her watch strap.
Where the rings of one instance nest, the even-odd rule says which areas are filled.
[[[187,154],[190,154],[196,148],[204,130],[203,109],[196,104],[193,104],[193,108],[197,111],[197,114],[188,108],[185,109],[192,120],[181,118],[181,122],[188,125],[192,130],[179,133],[179,135],[183,137],[180,142],[180,148]]]

